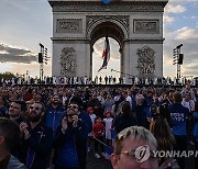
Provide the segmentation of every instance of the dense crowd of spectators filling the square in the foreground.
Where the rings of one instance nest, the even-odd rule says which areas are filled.
[[[189,144],[198,150],[198,88],[189,83],[0,87],[3,169],[86,169],[89,151],[113,169],[184,169],[185,157],[142,160],[134,150],[187,150]]]

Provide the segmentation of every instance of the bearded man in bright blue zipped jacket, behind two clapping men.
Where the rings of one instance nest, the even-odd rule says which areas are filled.
[[[61,102],[57,94],[53,95],[51,104],[47,106],[45,113],[45,124],[53,129],[53,134],[55,134],[57,126],[65,115],[65,110],[61,105]]]

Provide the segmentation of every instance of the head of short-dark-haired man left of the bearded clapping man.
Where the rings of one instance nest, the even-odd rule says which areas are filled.
[[[18,124],[25,122],[25,119],[22,117],[25,108],[25,102],[19,100],[12,101],[9,108],[9,119],[16,122]]]

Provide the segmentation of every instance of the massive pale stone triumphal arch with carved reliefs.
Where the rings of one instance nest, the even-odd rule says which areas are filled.
[[[48,2],[53,9],[53,76],[91,77],[92,46],[107,31],[120,45],[121,72],[163,76],[163,12],[168,0]]]

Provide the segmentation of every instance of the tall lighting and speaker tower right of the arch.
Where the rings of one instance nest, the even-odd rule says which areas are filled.
[[[183,65],[184,54],[180,54],[180,47],[183,44],[178,45],[173,49],[173,65],[177,66],[177,79],[180,78],[180,65]]]

